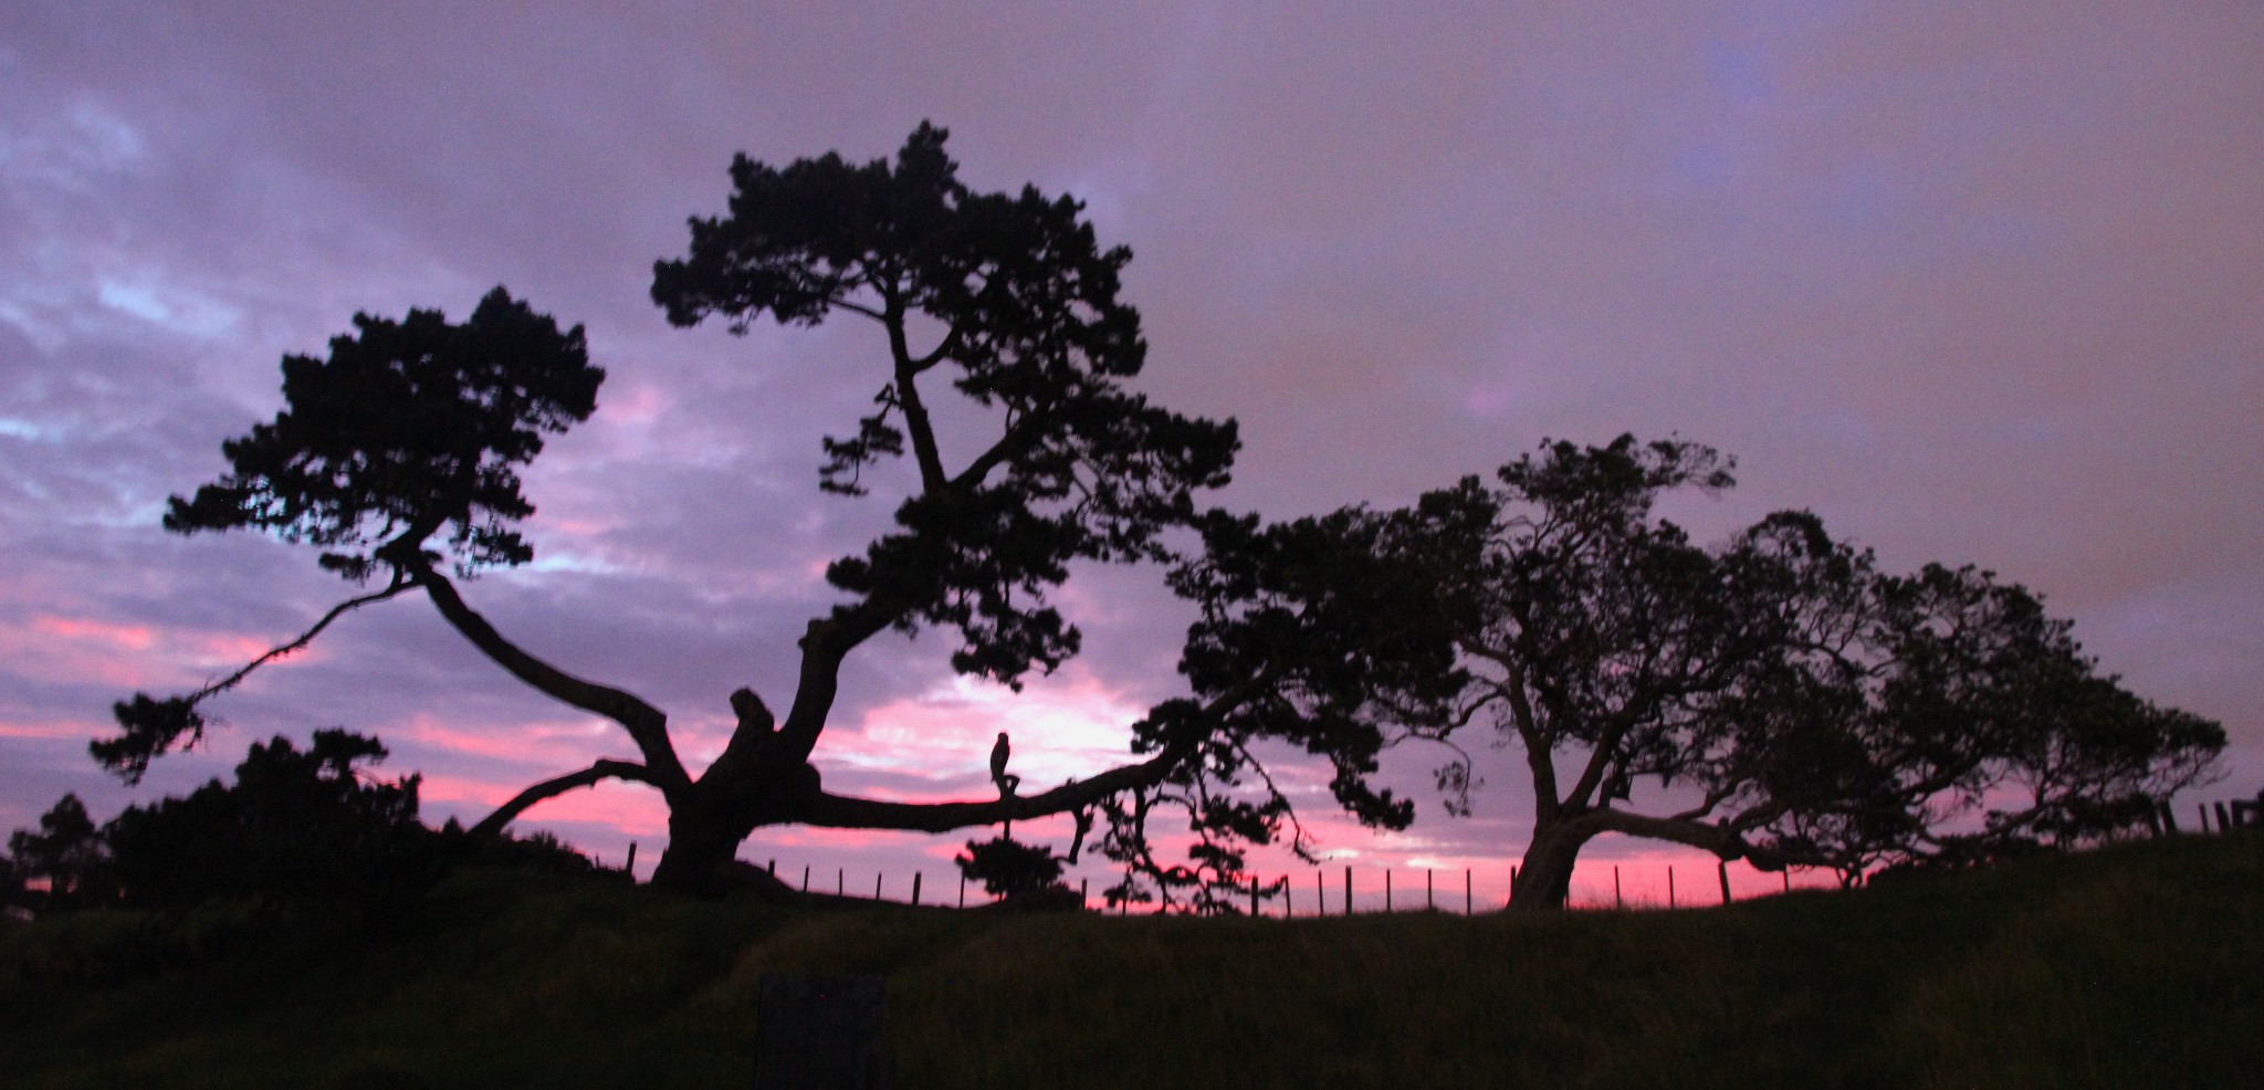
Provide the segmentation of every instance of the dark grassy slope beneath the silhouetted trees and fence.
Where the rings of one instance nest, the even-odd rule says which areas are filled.
[[[767,970],[887,977],[903,1088],[2241,1085],[2264,841],[1555,918],[783,909],[464,872],[412,918],[0,934],[0,1083],[747,1085]]]

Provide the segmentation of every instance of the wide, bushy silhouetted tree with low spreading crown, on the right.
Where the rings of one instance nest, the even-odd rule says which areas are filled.
[[[1718,548],[1657,519],[1725,489],[1689,442],[1544,444],[1408,517],[1456,625],[1460,693],[1386,707],[1524,752],[1533,841],[1515,906],[1560,906],[1580,848],[1648,836],[1761,870],[1974,859],[2144,823],[2223,748],[2216,723],[2101,678],[2042,603],[1988,571],[1877,571],[1807,512]],[[1438,635],[1433,632],[1433,639]],[[1680,793],[1635,804],[1644,780]],[[1440,770],[1467,811],[1467,757]]]

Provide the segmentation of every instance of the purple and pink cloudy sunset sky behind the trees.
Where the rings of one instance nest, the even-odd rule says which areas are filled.
[[[208,705],[208,746],[138,789],[86,757],[111,700],[204,684],[351,591],[310,548],[158,528],[281,408],[281,356],[358,310],[460,320],[498,283],[582,324],[609,378],[528,471],[537,562],[471,603],[663,707],[693,766],[731,689],[783,707],[826,560],[885,526],[815,487],[885,342],[677,331],[650,270],[722,211],[734,152],[867,161],[921,120],[974,188],[1075,195],[1134,249],[1139,390],[1241,421],[1220,505],[1397,505],[1544,437],[1682,435],[1739,458],[1739,489],[1673,505],[1703,539],[1807,508],[1890,569],[1992,569],[2126,687],[2226,725],[2226,777],[2194,798],[2264,786],[2264,7],[369,11],[0,7],[0,829],[63,791],[104,818],[331,725],[421,773],[430,820],[632,755],[403,598]],[[1121,761],[1182,693],[1191,614],[1157,569],[1080,571],[1062,603],[1087,653],[1023,693],[953,678],[935,635],[858,650],[826,786],[983,798],[998,730],[1030,784]],[[1386,757],[1420,800],[1404,834],[1277,770],[1363,900],[1379,868],[1401,891],[1469,868],[1499,897],[1530,795],[1515,750],[1474,752],[1469,818],[1429,789],[1442,752]],[[521,825],[607,863],[636,841],[650,872],[666,811],[611,784]],[[1017,832],[1066,845],[1066,820]],[[915,870],[949,888],[969,836],[761,829],[743,857],[901,900]],[[1684,897],[1712,870],[1616,838],[1583,859],[1589,900],[1612,866],[1650,900],[1666,866]],[[1259,866],[1309,897],[1311,868]]]

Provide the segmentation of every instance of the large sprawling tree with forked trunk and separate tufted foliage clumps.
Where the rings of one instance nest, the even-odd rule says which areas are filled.
[[[1125,388],[1141,372],[1139,313],[1118,301],[1123,247],[1103,249],[1082,206],[1046,197],[974,193],[944,154],[944,131],[921,125],[894,163],[851,165],[835,154],[770,168],[731,165],[729,215],[691,222],[691,252],[654,265],[652,297],[679,326],[722,317],[731,331],[758,320],[813,326],[851,315],[878,326],[881,367],[867,378],[874,410],[844,437],[824,440],[820,487],[867,496],[867,474],[910,458],[917,485],[897,501],[894,530],[863,555],[835,560],[826,578],[840,605],[815,616],[799,644],[801,669],[783,718],[752,689],[731,693],[738,721],[715,761],[691,775],[652,702],[575,678],[507,639],[466,603],[457,578],[521,564],[532,548],[512,528],[532,512],[516,467],[546,433],[589,417],[602,372],[582,331],[561,333],[498,288],[464,324],[435,310],[403,322],[355,317],[328,360],[283,360],[288,408],[222,446],[231,471],[192,499],[174,499],[177,533],[267,530],[321,546],[321,564],[383,587],[342,601],[306,635],[213,687],[174,698],[136,693],[118,705],[122,734],[95,755],[129,780],[170,746],[204,730],[199,705],[251,669],[315,639],[349,610],[423,594],[473,648],[521,682],[618,723],[634,759],[534,784],[478,832],[525,807],[600,780],[657,789],[670,841],[654,882],[704,891],[720,882],[736,845],[765,825],[946,832],[1048,814],[1089,814],[1109,800],[1164,791],[1211,829],[1270,834],[1286,804],[1225,802],[1252,768],[1247,741],[1277,723],[1252,712],[1277,687],[1322,669],[1322,689],[1352,684],[1322,659],[1243,655],[1254,673],[1191,669],[1195,696],[1159,707],[1139,725],[1146,759],[1037,793],[910,804],[829,793],[811,764],[838,696],[842,662],[872,637],[949,630],[953,669],[1005,684],[1053,671],[1078,653],[1080,635],[1048,603],[1069,564],[1170,562],[1166,533],[1202,521],[1195,494],[1227,483],[1234,424],[1182,417]],[[933,342],[919,333],[937,331]],[[964,451],[937,437],[933,399],[964,399],[994,424]],[[953,458],[958,453],[958,458]],[[1254,526],[1241,530],[1243,539]],[[1234,533],[1214,542],[1236,544]],[[453,571],[453,578],[451,578]],[[1207,610],[1232,612],[1234,587],[1209,587]],[[1322,641],[1336,648],[1345,644]],[[1306,655],[1309,646],[1279,650]],[[1338,795],[1363,816],[1404,823],[1386,795],[1367,791],[1372,746],[1352,734],[1290,727],[1338,759]],[[1338,752],[1338,748],[1343,752]],[[1137,823],[1146,804],[1114,804],[1112,843],[1143,859]],[[1234,863],[1214,854],[1214,877]],[[1232,870],[1232,866],[1229,866]]]

